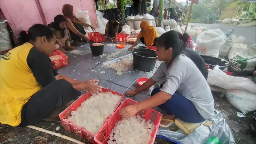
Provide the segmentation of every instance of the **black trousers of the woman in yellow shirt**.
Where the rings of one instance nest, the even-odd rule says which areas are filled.
[[[66,80],[61,79],[48,84],[32,95],[21,110],[19,126],[38,124],[57,108],[76,99],[81,92],[73,88]]]

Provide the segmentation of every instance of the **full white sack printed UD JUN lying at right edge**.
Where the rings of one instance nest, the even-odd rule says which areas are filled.
[[[256,110],[256,95],[253,93],[229,89],[226,90],[225,96],[232,106],[244,114]]]

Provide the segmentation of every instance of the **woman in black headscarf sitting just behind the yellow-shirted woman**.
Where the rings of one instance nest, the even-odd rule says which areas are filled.
[[[54,22],[51,22],[50,24],[48,24],[48,27],[54,29],[55,31],[54,34],[56,36],[56,41],[58,43],[58,46],[56,47],[59,47],[59,50],[64,54],[67,54],[68,52],[66,52],[62,48],[62,46],[65,46],[66,50],[76,49],[73,46],[69,46],[69,36],[68,36],[68,30],[66,28],[66,24],[67,24],[67,20],[61,14],[54,17]]]

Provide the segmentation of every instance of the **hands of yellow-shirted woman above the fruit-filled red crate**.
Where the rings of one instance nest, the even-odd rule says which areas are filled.
[[[97,79],[91,79],[88,80],[86,82],[84,82],[84,90],[86,90],[87,92],[90,92],[91,94],[93,93],[99,93],[101,92],[101,86],[98,85],[99,80]]]

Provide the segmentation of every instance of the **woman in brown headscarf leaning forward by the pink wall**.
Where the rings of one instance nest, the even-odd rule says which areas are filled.
[[[73,14],[73,6],[70,4],[64,4],[62,7],[62,13],[64,17],[67,19],[68,29],[71,39],[77,42],[81,42],[82,40],[86,40],[89,42],[89,38],[85,36],[86,32],[84,31],[84,27],[91,27],[92,30],[95,31],[95,28],[91,25],[85,23],[84,21],[78,20]],[[84,27],[83,27],[84,26]]]

